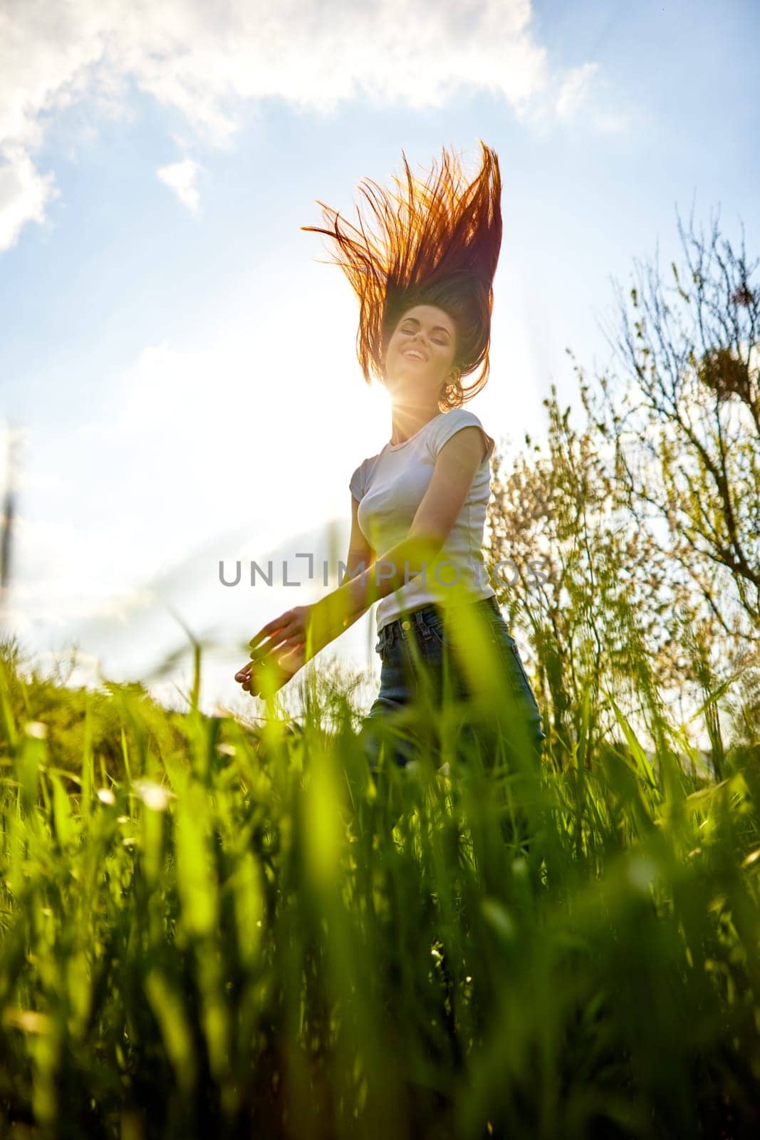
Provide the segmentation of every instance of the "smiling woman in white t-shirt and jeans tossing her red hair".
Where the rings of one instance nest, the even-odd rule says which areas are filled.
[[[446,150],[424,185],[403,156],[406,194],[398,179],[400,196],[361,187],[383,229],[377,239],[324,203],[332,228],[302,227],[344,255],[337,263],[360,301],[359,360],[366,382],[371,372],[389,391],[391,439],[351,477],[343,583],[263,626],[236,681],[252,694],[276,691],[377,601],[381,687],[362,726],[373,771],[384,743],[403,766],[428,730],[440,758],[463,710],[489,766],[505,744],[513,763],[528,757],[534,767],[545,739],[483,564],[493,440],[463,406],[488,380],[501,245],[498,158],[481,147],[481,171],[464,188]]]

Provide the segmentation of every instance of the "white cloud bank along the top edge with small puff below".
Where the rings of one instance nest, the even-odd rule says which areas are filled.
[[[230,145],[245,104],[272,97],[317,112],[357,96],[420,109],[457,87],[480,88],[521,117],[562,117],[596,65],[553,73],[531,15],[530,0],[379,0],[363,9],[342,0],[7,0],[0,250],[43,219],[54,176],[31,156],[56,113],[85,97],[129,116],[130,91],[148,92],[182,114],[194,142],[211,146]],[[162,170],[196,209],[190,168]]]

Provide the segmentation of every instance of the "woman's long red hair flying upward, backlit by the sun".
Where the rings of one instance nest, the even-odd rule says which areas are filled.
[[[464,186],[459,163],[446,147],[440,172],[433,164],[425,182],[412,177],[402,150],[406,188],[392,176],[399,194],[362,179],[359,189],[379,222],[377,236],[368,233],[359,207],[357,228],[319,199],[330,228],[301,227],[327,235],[337,246],[332,261],[341,266],[359,298],[357,353],[368,384],[370,374],[383,381],[389,340],[408,309],[434,304],[451,317],[457,329],[455,365],[463,376],[482,367],[471,384],[457,382],[446,389],[439,401],[442,408],[460,407],[489,376],[501,178],[496,152],[482,139],[479,142],[481,169]]]

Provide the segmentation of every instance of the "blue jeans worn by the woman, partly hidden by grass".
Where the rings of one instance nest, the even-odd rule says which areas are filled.
[[[433,603],[381,629],[379,692],[360,731],[374,775],[382,751],[404,767],[426,744],[443,763],[452,736],[465,744],[458,748],[465,762],[477,744],[485,769],[500,755],[510,768],[526,760],[538,771],[546,740],[541,714],[496,598],[457,609],[468,610],[477,637],[472,625],[463,632],[451,608]]]

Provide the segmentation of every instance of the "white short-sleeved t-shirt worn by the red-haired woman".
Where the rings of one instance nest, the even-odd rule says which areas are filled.
[[[455,432],[469,426],[483,431],[483,425],[473,412],[466,408],[441,412],[402,443],[386,443],[378,455],[363,459],[353,472],[349,487],[359,503],[359,526],[378,560],[408,537],[417,507],[433,475],[439,451]],[[488,451],[441,548],[438,565],[426,567],[425,580],[420,573],[412,577],[415,568],[411,567],[409,581],[379,600],[378,633],[389,621],[398,618],[402,610],[416,610],[428,602],[436,605],[446,605],[449,601],[460,603],[461,591],[466,591],[467,598],[472,601],[496,593],[489,583],[482,549],[485,510],[491,492],[489,459],[495,445],[485,432],[483,438],[488,443]],[[442,565],[443,562],[447,564]],[[399,569],[403,573],[403,567]],[[375,572],[378,581],[382,581],[382,565],[377,567],[377,571],[369,570],[370,580],[374,580],[371,575]],[[390,575],[386,573],[386,577]],[[457,588],[452,588],[453,586]]]

